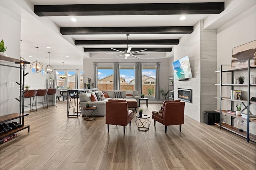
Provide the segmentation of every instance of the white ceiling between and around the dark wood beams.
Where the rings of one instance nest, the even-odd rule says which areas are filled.
[[[50,52],[50,64],[62,67],[64,65],[82,68],[83,59],[86,58],[111,58],[113,55],[105,53],[84,53],[84,47],[76,46],[74,40],[105,40],[126,39],[126,35],[62,35],[60,27],[115,27],[115,26],[193,26],[198,21],[204,20],[206,29],[217,29],[238,16],[248,8],[256,4],[256,0],[158,0],[157,3],[181,3],[181,2],[225,2],[225,10],[214,15],[185,15],[181,21],[181,15],[150,15],[150,16],[75,16],[76,22],[70,19],[73,16],[38,17],[34,14],[34,5],[51,4],[104,4],[106,0],[14,0],[22,7],[21,20],[21,55],[27,61],[36,60],[36,48],[38,49],[38,61],[48,64],[48,52]],[[156,3],[155,0],[122,0],[122,3]],[[120,4],[120,0],[112,0],[108,4]],[[180,39],[182,34],[132,34],[129,39]],[[174,45],[154,45],[132,47],[173,47]],[[47,49],[46,47],[51,47]],[[106,46],[104,46],[106,47]],[[109,48],[126,48],[126,46],[109,46]],[[172,53],[152,53],[148,58],[172,57]],[[32,56],[32,57],[28,57]],[[66,57],[69,56],[69,57]]]

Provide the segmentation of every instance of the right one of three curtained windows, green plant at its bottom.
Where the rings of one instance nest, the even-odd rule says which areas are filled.
[[[156,66],[142,66],[142,93],[147,96],[155,95]]]

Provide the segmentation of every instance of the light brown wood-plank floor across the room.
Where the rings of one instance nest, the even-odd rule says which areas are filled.
[[[140,105],[151,114],[160,104]],[[138,108],[139,109],[139,108]],[[137,109],[137,110],[138,110]],[[245,138],[199,123],[185,116],[179,125],[168,126],[151,119],[147,132],[132,125],[110,125],[105,117],[85,121],[67,117],[66,102],[58,107],[29,112],[25,125],[30,132],[0,145],[0,170],[255,170],[256,144]]]

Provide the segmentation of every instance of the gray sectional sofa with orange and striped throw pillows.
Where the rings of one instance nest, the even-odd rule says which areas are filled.
[[[79,99],[80,99],[80,106],[81,109],[83,109],[84,107],[86,107],[86,104],[89,103],[90,107],[91,106],[96,106],[98,108],[98,116],[105,116],[106,115],[106,106],[105,103],[106,101],[108,101],[109,99],[116,99],[116,100],[120,100],[120,99],[124,99],[124,100],[130,100],[130,99],[135,99],[137,101],[137,107],[138,107],[138,103],[139,103],[139,96],[138,96],[138,91],[136,90],[130,90],[130,91],[125,91],[125,90],[115,90],[115,91],[104,91],[108,93],[109,98],[104,98],[102,101],[97,101],[97,102],[92,102],[91,101],[91,95],[92,93],[99,93],[99,94],[103,94],[102,91],[95,91],[95,92],[87,92],[87,93],[82,93],[79,95]],[[120,98],[115,98],[115,93],[116,92],[122,92],[122,96],[120,96]],[[126,96],[126,92],[132,92],[132,96]],[[127,93],[127,95],[128,95]]]

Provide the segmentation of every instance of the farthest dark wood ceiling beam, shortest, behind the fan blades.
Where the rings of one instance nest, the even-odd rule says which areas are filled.
[[[118,49],[120,51],[125,51],[127,48],[115,48]],[[143,52],[171,52],[172,48],[132,48],[132,52],[133,51],[139,51],[139,50],[144,50],[147,49],[147,51],[143,51]],[[113,52],[116,54],[119,54],[117,51],[114,51],[110,48],[84,48],[84,52],[87,53],[101,53],[101,52]]]

